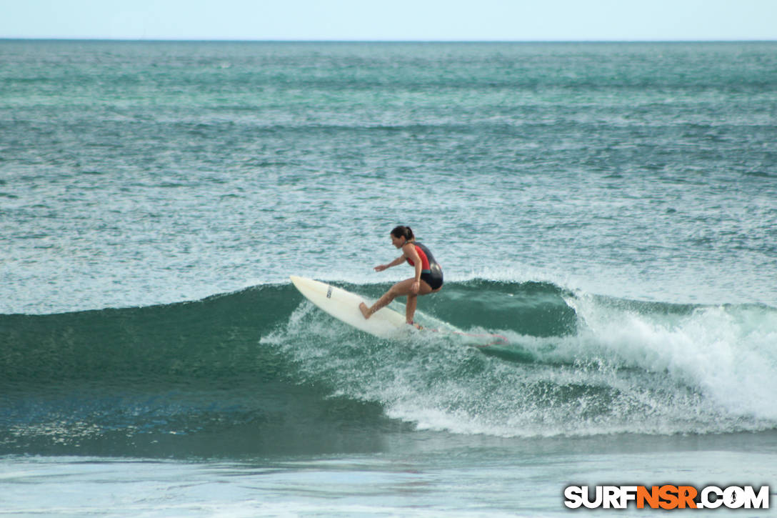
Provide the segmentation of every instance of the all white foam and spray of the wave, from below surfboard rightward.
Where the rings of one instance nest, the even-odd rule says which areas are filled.
[[[418,429],[591,436],[736,432],[777,423],[770,345],[777,312],[746,306],[640,313],[587,296],[569,303],[580,320],[576,334],[501,331],[510,339],[507,358],[436,335],[373,344],[320,312],[290,321],[294,347],[287,351],[308,376],[333,383],[337,395],[379,402],[389,417]],[[339,334],[326,338],[326,355],[315,345],[322,325],[325,334]]]

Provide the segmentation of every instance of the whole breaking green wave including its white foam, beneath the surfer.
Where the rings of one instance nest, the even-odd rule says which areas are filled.
[[[388,285],[347,285],[377,297]],[[400,308],[401,310],[401,308]],[[0,316],[0,454],[379,450],[395,437],[777,428],[777,310],[448,283],[419,320],[509,345],[384,341],[260,285],[121,310]]]

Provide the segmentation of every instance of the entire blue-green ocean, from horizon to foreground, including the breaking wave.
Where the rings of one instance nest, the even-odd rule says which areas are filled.
[[[506,345],[288,281],[380,296],[398,224]],[[0,240],[0,515],[774,500],[777,44],[0,41]]]

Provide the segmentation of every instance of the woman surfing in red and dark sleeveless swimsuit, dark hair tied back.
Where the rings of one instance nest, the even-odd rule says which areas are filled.
[[[372,313],[387,306],[396,297],[406,295],[405,320],[408,324],[414,325],[413,315],[416,313],[418,296],[440,291],[442,288],[442,268],[437,264],[437,261],[434,261],[434,256],[427,247],[421,243],[416,243],[416,237],[413,236],[413,230],[409,226],[398,226],[393,229],[391,242],[395,247],[402,249],[402,255],[389,264],[376,266],[375,271],[384,271],[386,268],[407,261],[416,268],[416,275],[397,282],[372,307],[367,307],[367,304],[361,303],[359,309],[364,318],[369,318]]]

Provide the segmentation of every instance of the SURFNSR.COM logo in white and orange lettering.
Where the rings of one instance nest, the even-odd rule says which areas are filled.
[[[564,488],[564,505],[570,509],[768,509],[769,486],[732,485],[570,485]]]

